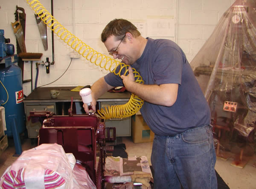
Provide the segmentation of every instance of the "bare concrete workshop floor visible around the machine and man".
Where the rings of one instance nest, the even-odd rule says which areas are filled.
[[[120,139],[119,139],[120,141]],[[152,142],[148,143],[133,143],[131,137],[122,137],[122,143],[125,143],[126,152],[128,156],[137,157],[146,156],[149,164],[151,164],[150,156],[152,150]],[[9,147],[0,156],[0,175],[10,166],[17,157],[14,157],[15,147],[13,140],[8,138]],[[36,140],[31,140],[21,137],[22,150],[29,150],[37,146]],[[252,166],[250,162],[244,166],[243,169],[231,166],[232,159],[226,161],[217,159],[215,169],[222,179],[227,183],[230,189],[256,189],[256,167]]]

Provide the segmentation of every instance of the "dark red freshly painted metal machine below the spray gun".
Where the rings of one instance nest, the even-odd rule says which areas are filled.
[[[105,124],[100,121],[100,118],[94,115],[54,116],[49,114],[39,130],[38,145],[44,143],[60,144],[66,153],[73,153],[77,163],[86,168],[97,189],[102,188]]]

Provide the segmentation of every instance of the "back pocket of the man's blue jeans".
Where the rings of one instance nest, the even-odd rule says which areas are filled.
[[[183,133],[182,139],[186,143],[199,144],[208,141],[208,134],[205,128]]]

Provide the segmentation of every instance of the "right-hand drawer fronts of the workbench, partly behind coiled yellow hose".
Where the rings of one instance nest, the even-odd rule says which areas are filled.
[[[100,109],[111,105],[125,104],[128,101],[101,102]],[[105,120],[106,127],[116,127],[116,136],[131,136],[131,117]]]

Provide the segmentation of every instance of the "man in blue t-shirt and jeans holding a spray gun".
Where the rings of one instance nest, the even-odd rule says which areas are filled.
[[[93,84],[93,110],[103,93],[125,86],[144,100],[140,112],[155,133],[154,188],[217,189],[210,110],[182,49],[171,40],[142,37],[123,19],[108,23],[101,38],[109,54],[130,67],[127,76],[108,73]],[[144,84],[134,81],[132,68]]]

